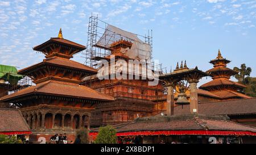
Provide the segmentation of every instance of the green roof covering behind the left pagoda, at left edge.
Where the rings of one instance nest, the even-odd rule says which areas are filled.
[[[17,73],[18,70],[14,66],[0,65],[0,79],[16,85],[24,76]]]

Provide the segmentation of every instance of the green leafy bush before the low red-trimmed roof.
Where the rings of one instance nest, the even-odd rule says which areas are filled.
[[[115,135],[117,131],[111,126],[101,127],[100,132],[96,138],[96,144],[116,144],[117,136]]]

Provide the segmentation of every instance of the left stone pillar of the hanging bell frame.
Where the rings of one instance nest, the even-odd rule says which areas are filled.
[[[167,115],[174,115],[174,86],[167,86],[167,107],[166,107]]]

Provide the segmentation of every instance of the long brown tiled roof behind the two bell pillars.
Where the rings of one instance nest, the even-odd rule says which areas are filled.
[[[256,98],[233,99],[198,104],[198,111],[205,115],[245,115],[256,114]],[[174,115],[190,114],[188,105],[174,107]]]

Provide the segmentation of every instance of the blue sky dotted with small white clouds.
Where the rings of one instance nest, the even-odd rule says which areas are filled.
[[[174,69],[187,60],[189,68],[206,71],[222,56],[229,68],[245,63],[256,77],[256,1],[252,0],[1,0],[0,64],[18,69],[41,62],[32,50],[50,37],[86,45],[90,15],[123,30],[153,33],[153,59]],[[82,54],[73,60],[84,63]],[[203,79],[203,81],[209,81]]]

